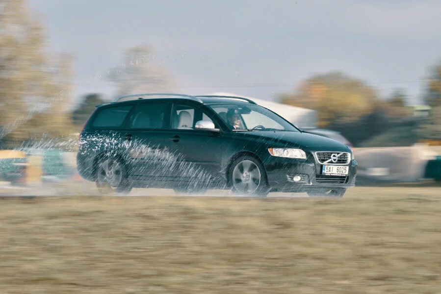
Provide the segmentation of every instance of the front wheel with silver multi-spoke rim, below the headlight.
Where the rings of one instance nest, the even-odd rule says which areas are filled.
[[[235,195],[266,197],[270,190],[265,168],[259,160],[248,155],[233,161],[229,181]]]

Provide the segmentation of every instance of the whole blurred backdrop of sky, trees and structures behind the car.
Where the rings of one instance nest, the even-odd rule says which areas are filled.
[[[441,2],[1,0],[0,177],[80,181],[96,105],[255,99],[355,150],[358,184],[441,180]]]

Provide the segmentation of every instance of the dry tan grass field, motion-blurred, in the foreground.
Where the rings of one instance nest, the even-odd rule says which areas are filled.
[[[441,188],[0,199],[0,293],[441,293]]]

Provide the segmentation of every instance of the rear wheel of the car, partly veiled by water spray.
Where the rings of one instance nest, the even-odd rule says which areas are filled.
[[[129,194],[132,187],[127,179],[125,164],[118,158],[104,157],[98,161],[96,186],[102,195]]]

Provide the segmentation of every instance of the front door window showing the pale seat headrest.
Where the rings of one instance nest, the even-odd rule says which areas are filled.
[[[199,107],[185,104],[175,104],[172,111],[172,129],[188,129],[194,130],[197,121],[209,120],[213,122],[208,115]],[[214,122],[213,122],[214,123]],[[218,126],[215,127],[218,128]]]

